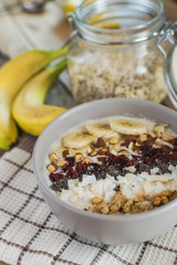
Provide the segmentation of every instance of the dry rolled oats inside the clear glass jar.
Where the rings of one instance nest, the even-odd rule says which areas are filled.
[[[82,45],[81,45],[82,51]],[[69,57],[69,73],[76,102],[133,97],[160,103],[166,97],[163,62],[157,51],[86,51]]]

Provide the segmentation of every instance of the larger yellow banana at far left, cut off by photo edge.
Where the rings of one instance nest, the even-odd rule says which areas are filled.
[[[53,51],[27,51],[0,70],[0,148],[8,149],[18,137],[18,128],[11,116],[11,105],[18,92],[50,62],[65,55],[66,50],[67,46]]]

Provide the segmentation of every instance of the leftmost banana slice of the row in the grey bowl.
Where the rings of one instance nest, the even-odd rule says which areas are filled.
[[[81,148],[94,142],[96,139],[92,135],[83,132],[71,132],[63,137],[62,144],[67,148]]]

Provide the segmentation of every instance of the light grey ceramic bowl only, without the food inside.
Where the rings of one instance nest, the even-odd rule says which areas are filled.
[[[175,225],[177,199],[149,212],[104,215],[66,204],[52,193],[44,180],[44,156],[53,141],[80,123],[115,115],[147,117],[157,123],[169,124],[177,132],[177,113],[162,105],[128,98],[110,98],[82,104],[55,118],[42,131],[33,150],[33,169],[45,202],[63,224],[88,240],[117,245],[152,240]]]

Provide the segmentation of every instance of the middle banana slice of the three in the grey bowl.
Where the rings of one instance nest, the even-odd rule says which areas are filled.
[[[116,139],[121,139],[121,135],[116,131],[113,131],[110,125],[106,124],[86,124],[87,131],[95,137],[104,137],[105,139],[110,139],[112,137],[116,137]]]

